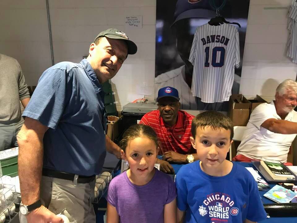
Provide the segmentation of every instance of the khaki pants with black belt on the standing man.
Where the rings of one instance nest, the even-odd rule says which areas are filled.
[[[93,208],[95,180],[86,184],[42,176],[41,202],[54,214],[59,214],[66,208],[71,216],[71,223],[95,223]],[[19,213],[20,223],[27,223],[26,217]],[[28,222],[33,223],[33,222]]]

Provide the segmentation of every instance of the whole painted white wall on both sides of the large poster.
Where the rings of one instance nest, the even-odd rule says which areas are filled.
[[[297,65],[286,58],[287,7],[291,0],[251,0],[240,93],[270,101],[276,86],[296,78]],[[136,86],[153,86],[155,74],[156,0],[49,0],[54,61],[79,62],[94,37],[110,27],[127,33],[138,52],[129,55],[111,80],[121,110]],[[28,85],[36,85],[51,66],[45,0],[0,1],[0,53],[16,58]],[[141,29],[126,28],[125,16],[142,15]],[[153,96],[145,96],[153,99]]]

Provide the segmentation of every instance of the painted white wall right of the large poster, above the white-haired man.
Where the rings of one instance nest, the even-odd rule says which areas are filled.
[[[251,0],[245,39],[240,93],[274,99],[287,78],[296,79],[297,64],[286,57],[287,13],[291,0]]]

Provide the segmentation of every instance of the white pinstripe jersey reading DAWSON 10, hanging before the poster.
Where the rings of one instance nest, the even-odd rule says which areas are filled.
[[[208,23],[196,29],[189,61],[193,64],[192,94],[202,102],[229,101],[234,66],[239,67],[239,33],[235,26]]]

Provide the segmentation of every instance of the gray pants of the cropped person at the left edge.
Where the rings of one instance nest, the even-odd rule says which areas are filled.
[[[0,124],[0,151],[18,146],[16,135],[19,133],[19,130],[22,128],[23,124],[24,119],[22,119],[17,124]]]

